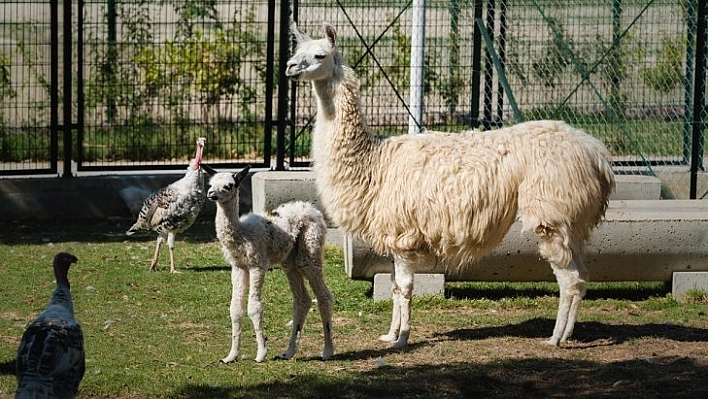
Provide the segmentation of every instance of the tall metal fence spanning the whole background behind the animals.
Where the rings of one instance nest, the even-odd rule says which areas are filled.
[[[618,173],[659,177],[665,198],[707,195],[705,0],[425,11],[422,127],[564,119],[603,140]],[[406,133],[411,0],[6,1],[0,174],[54,173],[62,160],[63,175],[179,169],[198,136],[213,164],[308,166],[314,99],[281,67],[291,12],[312,36],[335,26],[369,126]]]

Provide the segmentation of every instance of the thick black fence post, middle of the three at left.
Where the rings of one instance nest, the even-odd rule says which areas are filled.
[[[61,177],[69,178],[71,175],[71,120],[72,120],[72,99],[71,99],[71,82],[72,82],[72,54],[71,54],[71,0],[64,0],[64,17],[62,23],[64,24],[64,40],[63,40],[63,74],[64,79],[63,93],[62,93],[62,106],[64,108],[64,116],[62,120],[62,130],[63,130],[63,141],[64,141],[64,154],[63,162],[64,168]]]

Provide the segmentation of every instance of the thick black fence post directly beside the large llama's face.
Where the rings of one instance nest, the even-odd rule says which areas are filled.
[[[290,2],[283,0],[280,2],[280,46],[278,48],[278,129],[275,138],[275,170],[285,170],[285,128],[288,116],[288,77],[285,76],[285,63],[290,54]]]

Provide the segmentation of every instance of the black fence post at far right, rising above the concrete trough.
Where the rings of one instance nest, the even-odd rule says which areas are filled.
[[[696,199],[698,169],[703,168],[703,127],[706,89],[706,0],[698,0],[696,22],[696,81],[693,85],[693,136],[691,138],[691,186],[690,199]]]

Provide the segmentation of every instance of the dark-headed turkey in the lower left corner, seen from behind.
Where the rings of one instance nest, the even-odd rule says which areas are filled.
[[[68,272],[78,259],[54,256],[57,287],[47,308],[27,327],[17,351],[16,398],[73,398],[84,376],[84,336],[74,318]]]

